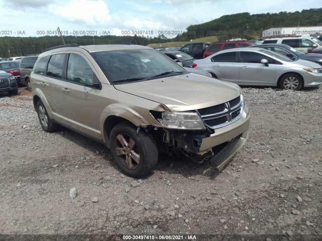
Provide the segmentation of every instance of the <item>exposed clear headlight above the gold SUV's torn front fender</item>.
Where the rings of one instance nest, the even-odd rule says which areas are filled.
[[[160,124],[169,129],[205,130],[205,125],[197,112],[162,112]]]

